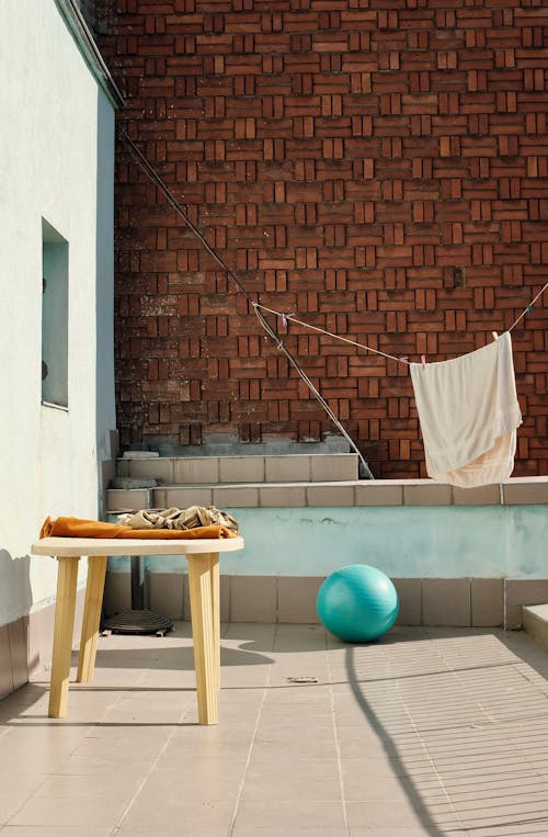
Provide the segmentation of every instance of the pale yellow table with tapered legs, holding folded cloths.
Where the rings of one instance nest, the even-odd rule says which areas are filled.
[[[49,717],[65,717],[67,714],[80,557],[88,556],[88,582],[76,679],[77,682],[89,682],[95,667],[109,555],[184,555],[189,562],[198,722],[216,724],[220,688],[219,553],[241,548],[243,539],[240,536],[194,541],[43,538],[33,544],[33,555],[49,555],[58,561]]]

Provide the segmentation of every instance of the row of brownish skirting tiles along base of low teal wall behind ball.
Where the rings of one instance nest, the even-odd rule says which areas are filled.
[[[224,622],[318,623],[316,597],[323,577],[227,576],[220,579]],[[548,578],[392,578],[400,612],[397,624],[452,627],[522,627],[525,604],[548,602]],[[148,607],[175,620],[190,620],[187,576],[147,577]],[[109,573],[104,612],[129,608],[130,581]]]

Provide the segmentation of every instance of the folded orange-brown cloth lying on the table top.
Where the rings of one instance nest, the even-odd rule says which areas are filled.
[[[81,520],[80,518],[46,518],[39,536],[42,538],[136,538],[147,541],[190,541],[199,538],[236,538],[236,533],[226,527],[209,525],[193,529],[132,529],[117,523],[101,520]]]

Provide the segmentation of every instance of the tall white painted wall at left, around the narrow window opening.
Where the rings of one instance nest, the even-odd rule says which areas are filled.
[[[54,0],[2,0],[1,18],[0,625],[55,596],[54,561],[30,546],[47,514],[98,517],[98,439],[115,426],[112,315],[96,314],[98,284],[103,309],[112,286],[98,251],[112,253],[113,108]],[[69,242],[68,410],[41,404],[43,217]]]

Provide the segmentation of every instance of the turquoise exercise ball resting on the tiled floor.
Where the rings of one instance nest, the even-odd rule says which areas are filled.
[[[396,622],[398,593],[388,576],[367,564],[350,564],[331,573],[316,602],[322,624],[344,642],[369,642]]]

